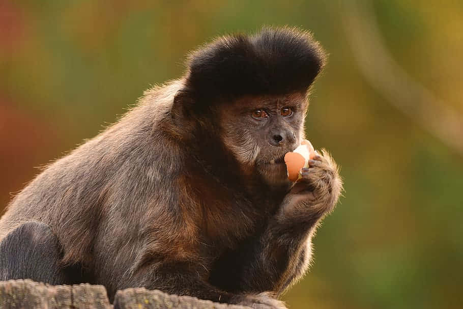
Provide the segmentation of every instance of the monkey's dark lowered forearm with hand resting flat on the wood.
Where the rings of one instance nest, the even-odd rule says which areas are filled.
[[[169,294],[188,295],[199,299],[250,306],[255,309],[286,309],[283,302],[266,293],[234,294],[217,289],[207,282],[204,266],[187,262],[153,262],[144,265],[118,287],[144,287]],[[114,303],[117,309],[120,304]]]

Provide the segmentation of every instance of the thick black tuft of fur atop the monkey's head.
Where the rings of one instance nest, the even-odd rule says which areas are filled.
[[[310,33],[265,27],[220,37],[189,58],[187,88],[202,99],[307,90],[325,62]]]

